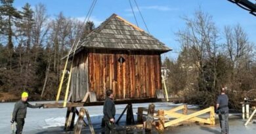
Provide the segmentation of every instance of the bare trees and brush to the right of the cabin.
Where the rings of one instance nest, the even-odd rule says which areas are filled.
[[[215,105],[222,87],[227,88],[232,109],[239,109],[244,97],[256,98],[255,44],[242,26],[217,27],[202,10],[182,21],[186,27],[176,33],[179,58],[163,61],[169,70],[169,92],[202,107]]]

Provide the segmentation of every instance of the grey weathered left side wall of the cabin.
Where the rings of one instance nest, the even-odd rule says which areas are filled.
[[[85,51],[75,55],[70,85],[72,101],[81,101],[89,89],[87,57],[88,53]]]

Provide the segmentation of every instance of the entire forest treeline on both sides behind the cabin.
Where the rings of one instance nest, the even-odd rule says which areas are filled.
[[[83,39],[95,25],[62,12],[51,18],[40,3],[33,8],[27,3],[21,10],[12,3],[0,5],[0,98],[16,99],[13,96],[26,90],[33,100],[54,99],[64,68],[61,58],[79,32]],[[217,27],[202,10],[181,21],[186,27],[176,32],[179,58],[162,61],[169,70],[169,93],[207,107],[215,104],[220,88],[226,86],[230,107],[237,109],[246,93],[256,89],[255,44],[240,24]]]

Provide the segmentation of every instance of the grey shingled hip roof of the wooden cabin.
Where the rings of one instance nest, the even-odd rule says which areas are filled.
[[[154,50],[168,52],[171,49],[136,25],[112,14],[77,46],[81,48],[104,48],[112,50]],[[79,50],[78,50],[79,49]]]

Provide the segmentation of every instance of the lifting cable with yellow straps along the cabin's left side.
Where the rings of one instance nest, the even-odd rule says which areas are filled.
[[[62,84],[63,84],[63,81],[64,81],[64,76],[66,74],[66,67],[68,65],[68,59],[70,57],[70,54],[72,54],[72,51],[73,51],[73,58],[72,58],[72,63],[73,63],[74,55],[75,55],[75,50],[77,49],[77,46],[78,46],[78,44],[80,42],[80,39],[81,39],[81,35],[83,33],[83,27],[85,26],[85,22],[87,22],[89,20],[89,17],[91,16],[91,13],[93,12],[93,8],[96,5],[96,1],[97,0],[94,0],[93,3],[91,4],[91,7],[89,8],[89,11],[87,12],[87,16],[86,16],[86,18],[85,18],[85,20],[83,22],[82,28],[78,31],[77,37],[75,38],[75,41],[72,44],[72,48],[70,48],[70,51],[68,52],[68,56],[67,56],[66,63],[65,63],[65,66],[64,66],[64,71],[63,71],[63,74],[62,74],[62,78],[60,80],[60,86],[58,88],[58,93],[57,93],[57,96],[56,96],[56,103],[58,103],[58,99],[60,97],[60,92],[61,92],[61,89],[62,89]],[[74,46],[75,46],[75,48],[74,48]],[[67,84],[66,93],[65,93],[65,100],[64,100],[65,107],[66,107],[66,98],[67,98],[66,96],[68,96],[67,92],[68,92],[68,88],[70,87],[71,75],[72,75],[72,65],[71,65],[71,68],[70,68],[70,76],[68,77],[68,84]]]

